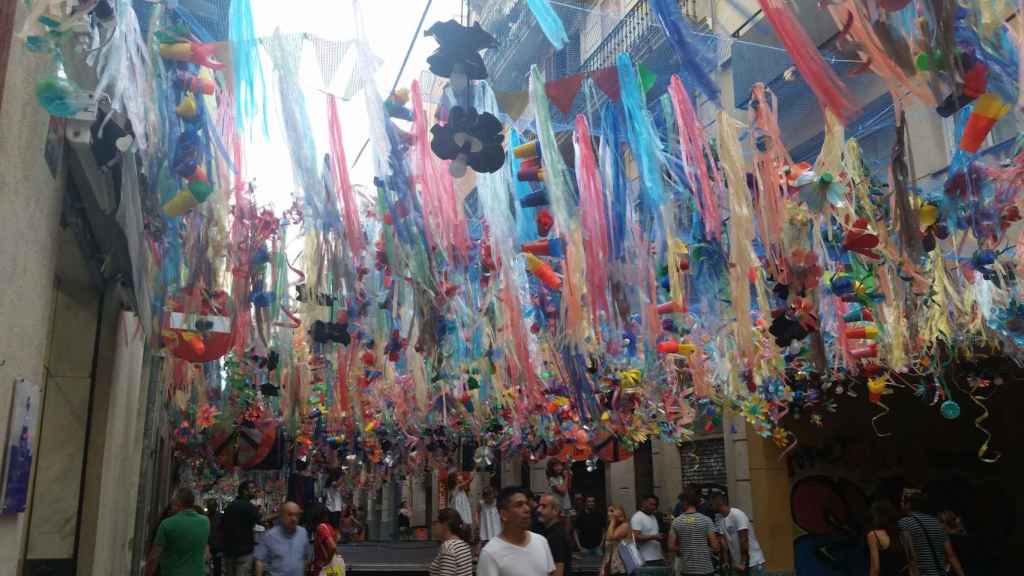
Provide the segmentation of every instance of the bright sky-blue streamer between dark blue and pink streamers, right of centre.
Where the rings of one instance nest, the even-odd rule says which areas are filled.
[[[643,184],[643,202],[641,213],[651,214],[662,206],[665,198],[665,182],[662,180],[662,141],[654,131],[644,104],[643,91],[637,79],[636,68],[630,55],[623,52],[617,56],[618,85],[626,111],[626,126],[628,128],[630,149],[640,167],[640,180]]]

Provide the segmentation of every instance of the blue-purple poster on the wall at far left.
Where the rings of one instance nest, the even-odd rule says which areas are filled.
[[[32,446],[39,429],[39,386],[18,378],[14,381],[13,399],[7,419],[7,441],[4,443],[2,495],[0,515],[25,511],[29,500],[29,479],[32,476]]]

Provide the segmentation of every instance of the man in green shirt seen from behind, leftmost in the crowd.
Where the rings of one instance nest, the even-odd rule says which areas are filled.
[[[174,516],[160,523],[145,563],[146,576],[204,576],[210,521],[195,510],[196,495],[188,488],[174,493]]]

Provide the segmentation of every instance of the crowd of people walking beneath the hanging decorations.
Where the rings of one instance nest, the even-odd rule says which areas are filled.
[[[430,576],[567,576],[587,558],[600,559],[601,576],[765,573],[750,518],[721,492],[705,498],[687,488],[672,513],[646,495],[627,518],[617,504],[603,507],[595,495],[570,494],[559,477],[566,478],[563,469],[551,466],[548,491],[536,496],[522,487],[485,486],[476,505],[469,483],[459,479],[450,506],[434,518],[431,535],[440,544]],[[223,513],[215,501],[197,506],[190,490],[178,489],[154,534],[146,576],[342,576],[337,546],[349,541],[352,506],[336,490],[329,487],[305,510],[288,501],[264,516],[253,482],[240,484]],[[922,504],[911,492],[901,507],[886,500],[871,505],[866,576],[966,576],[958,518],[924,513]],[[399,506],[408,533],[412,511],[404,501]]]

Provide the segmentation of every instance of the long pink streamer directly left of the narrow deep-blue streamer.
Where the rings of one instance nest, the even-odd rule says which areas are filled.
[[[608,285],[607,262],[610,256],[608,222],[604,213],[604,191],[601,188],[601,175],[597,171],[590,125],[587,117],[582,114],[577,115],[572,143],[575,147],[577,183],[580,186],[580,224],[587,243],[587,294],[594,329],[598,330],[601,326],[598,313],[604,313],[605,318],[610,317],[605,290]]]

